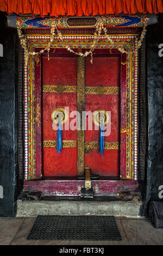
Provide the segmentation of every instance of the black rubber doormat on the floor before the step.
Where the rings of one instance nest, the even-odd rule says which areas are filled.
[[[114,216],[39,215],[27,240],[122,239]]]

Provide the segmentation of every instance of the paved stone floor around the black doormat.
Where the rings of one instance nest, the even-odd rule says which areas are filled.
[[[35,217],[0,218],[0,245],[163,245],[163,229],[145,218],[116,217],[122,241],[28,241]]]

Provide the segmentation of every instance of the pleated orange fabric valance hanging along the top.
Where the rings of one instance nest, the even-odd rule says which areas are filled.
[[[92,16],[100,14],[163,13],[163,0],[0,0],[8,14]]]

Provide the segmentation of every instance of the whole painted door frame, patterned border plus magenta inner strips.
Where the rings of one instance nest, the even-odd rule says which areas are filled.
[[[136,34],[112,35],[117,46],[130,51],[135,50]],[[45,47],[50,39],[49,34],[27,34],[27,45],[37,51]],[[64,35],[70,47],[90,48],[92,35]],[[52,52],[55,48],[64,48],[58,36],[55,37]],[[97,49],[109,49],[112,54],[120,54],[114,49],[105,36]],[[137,180],[137,51],[121,54],[121,165],[120,178]],[[41,59],[30,56],[28,65],[24,66],[24,179],[30,180],[42,176],[41,159]]]

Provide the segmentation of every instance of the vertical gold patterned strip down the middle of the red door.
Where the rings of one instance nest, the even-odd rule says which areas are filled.
[[[77,110],[80,113],[78,136],[78,175],[84,174],[84,130],[82,130],[82,111],[85,110],[85,58],[78,57]],[[79,128],[79,127],[78,127]]]

